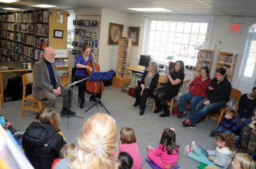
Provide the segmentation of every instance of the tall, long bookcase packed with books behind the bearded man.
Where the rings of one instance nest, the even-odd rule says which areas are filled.
[[[61,19],[62,18],[62,19]],[[0,61],[39,61],[45,47],[56,50],[63,85],[69,84],[67,55],[67,11],[30,10],[0,13]],[[63,38],[54,38],[54,30],[63,31]],[[60,50],[60,51],[58,51]]]

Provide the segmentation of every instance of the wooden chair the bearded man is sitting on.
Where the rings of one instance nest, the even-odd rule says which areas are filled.
[[[40,112],[44,107],[44,103],[40,100],[35,99],[33,94],[26,96],[26,87],[29,84],[33,84],[33,73],[27,73],[22,75],[23,93],[22,93],[22,105],[20,115],[24,115],[24,110],[31,110],[35,112]],[[25,107],[25,101],[31,101],[34,104]]]

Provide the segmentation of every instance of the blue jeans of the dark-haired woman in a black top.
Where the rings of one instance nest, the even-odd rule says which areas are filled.
[[[219,101],[216,103],[210,103],[209,105],[204,105],[204,102],[207,101],[208,98],[202,99],[195,108],[194,114],[190,114],[188,119],[192,124],[196,124],[196,122],[200,121],[205,115],[216,112],[221,108],[227,105],[226,101]]]

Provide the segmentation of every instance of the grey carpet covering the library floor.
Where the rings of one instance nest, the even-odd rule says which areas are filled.
[[[86,103],[84,109],[79,108],[77,99],[77,87],[74,87],[74,96],[72,109],[77,112],[77,115],[83,117],[70,117],[67,129],[67,117],[61,117],[61,131],[67,137],[69,142],[77,143],[77,138],[81,133],[83,122],[90,117],[90,115],[97,112],[97,107],[93,107],[90,111],[84,113],[93,103],[88,101],[90,95],[86,94]],[[62,98],[58,98],[57,110],[60,112],[62,106]],[[216,142],[211,138],[210,132],[216,125],[216,121],[210,119],[205,122],[202,120],[196,125],[195,129],[184,129],[180,126],[180,119],[177,117],[161,118],[158,114],[152,113],[152,106],[147,107],[143,116],[139,115],[139,108],[132,107],[134,98],[127,96],[127,93],[122,92],[116,87],[105,87],[102,94],[102,103],[109,110],[112,117],[116,120],[118,125],[118,138],[120,129],[129,126],[134,129],[138,145],[140,147],[141,156],[143,159],[147,158],[147,145],[156,147],[160,142],[161,134],[164,128],[175,128],[177,134],[177,143],[180,145],[179,162],[180,168],[191,169],[199,165],[198,162],[184,156],[184,147],[195,140],[197,143],[204,145],[209,150],[214,150]],[[12,122],[13,127],[21,130],[26,130],[31,122],[36,117],[36,112],[25,112],[24,117],[20,117],[21,100],[9,101],[3,103],[1,114]],[[99,107],[98,112],[106,113],[104,108]],[[118,140],[119,142],[119,140]],[[148,164],[143,161],[143,168],[150,168]]]

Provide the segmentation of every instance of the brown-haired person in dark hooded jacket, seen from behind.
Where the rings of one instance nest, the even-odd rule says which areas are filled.
[[[60,157],[65,145],[60,131],[60,115],[53,108],[44,108],[36,121],[26,129],[22,147],[35,169],[51,169],[52,161]]]

